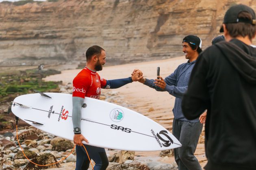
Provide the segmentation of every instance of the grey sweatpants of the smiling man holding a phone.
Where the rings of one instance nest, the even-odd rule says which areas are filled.
[[[182,144],[182,147],[174,149],[174,157],[179,170],[202,170],[194,155],[202,128],[203,125],[200,122],[190,123],[174,119],[172,134]]]

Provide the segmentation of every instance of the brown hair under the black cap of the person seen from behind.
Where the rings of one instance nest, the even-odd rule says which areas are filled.
[[[243,19],[245,21],[251,21],[253,19],[252,15],[246,11],[239,13],[239,19]],[[238,22],[238,23],[225,23],[226,29],[231,37],[236,38],[237,36],[249,36],[249,39],[255,36],[256,25],[247,23],[247,22]]]

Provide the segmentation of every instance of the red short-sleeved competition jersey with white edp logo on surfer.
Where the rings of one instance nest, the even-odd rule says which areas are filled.
[[[100,78],[97,72],[85,67],[73,80],[73,97],[99,99],[100,89],[105,85],[105,79]]]

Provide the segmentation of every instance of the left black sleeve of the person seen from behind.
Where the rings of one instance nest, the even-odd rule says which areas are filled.
[[[189,120],[196,119],[208,108],[210,98],[206,84],[207,70],[208,63],[200,55],[191,72],[188,90],[182,98],[182,112]]]

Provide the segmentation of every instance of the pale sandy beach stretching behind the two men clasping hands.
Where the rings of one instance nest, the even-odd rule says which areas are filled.
[[[107,58],[106,58],[107,62]],[[184,56],[175,57],[167,60],[157,60],[151,62],[141,62],[134,64],[124,64],[118,66],[103,67],[99,72],[104,79],[120,79],[130,77],[130,74],[135,68],[142,70],[143,76],[148,79],[156,78],[156,67],[160,67],[160,75],[165,78],[178,67],[178,65],[187,62]],[[76,70],[64,70],[61,74],[46,77],[45,81],[63,81],[63,84],[72,83],[74,77],[80,72]],[[174,115],[172,109],[174,107],[175,97],[168,92],[158,92],[150,87],[147,87],[139,82],[133,82],[119,89],[102,89],[102,95],[106,93],[115,93],[117,95],[115,100],[111,101],[115,104],[135,110],[150,119],[158,122],[172,131],[172,122]],[[174,157],[159,157],[160,151],[154,152],[136,152],[135,160],[137,159],[152,159],[154,161],[161,161],[164,163],[174,162]],[[111,154],[111,151],[108,151]],[[200,140],[195,151],[197,159],[200,161],[202,167],[207,162],[204,152],[204,129],[200,136]]]

